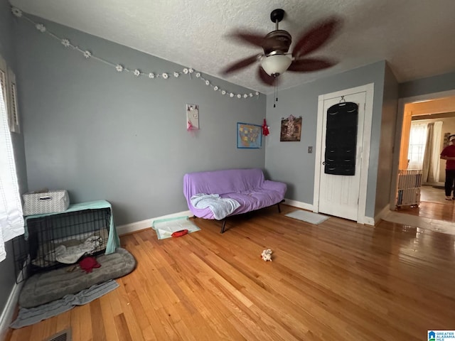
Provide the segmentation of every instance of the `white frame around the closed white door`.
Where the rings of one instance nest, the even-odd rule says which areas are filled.
[[[368,166],[370,164],[370,140],[371,125],[373,121],[373,96],[375,83],[351,87],[350,89],[321,94],[318,97],[318,121],[316,124],[316,160],[314,163],[314,195],[313,212],[319,212],[319,189],[321,181],[321,162],[322,162],[322,132],[323,132],[323,104],[326,99],[334,97],[348,96],[358,92],[365,92],[365,119],[363,121],[363,148],[360,155],[360,188],[357,209],[357,222],[359,224],[371,224],[370,218],[365,217],[367,185],[368,185]],[[373,222],[374,224],[374,222]]]

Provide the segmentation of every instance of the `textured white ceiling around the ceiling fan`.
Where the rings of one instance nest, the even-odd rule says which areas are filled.
[[[277,8],[286,11],[279,28],[294,39],[327,16],[335,14],[344,21],[337,36],[314,54],[340,63],[319,72],[286,72],[280,76],[281,89],[379,60],[390,63],[399,82],[455,70],[455,0],[11,0],[11,4],[264,93],[273,88],[257,80],[257,65],[228,77],[220,71],[262,52],[235,43],[228,33],[236,28],[273,31],[269,15]]]

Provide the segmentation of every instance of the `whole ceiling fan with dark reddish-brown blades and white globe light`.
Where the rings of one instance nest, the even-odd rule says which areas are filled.
[[[279,30],[278,23],[284,18],[283,9],[274,9],[270,13],[270,20],[275,23],[275,30],[267,35],[235,31],[230,36],[242,43],[261,47],[264,53],[255,54],[238,60],[226,67],[222,73],[228,75],[243,69],[253,63],[260,62],[257,76],[265,85],[277,85],[279,75],[285,71],[311,72],[326,69],[336,64],[336,61],[327,58],[307,58],[306,55],[322,47],[341,25],[341,19],[336,17],[319,21],[314,26],[304,31],[297,39],[291,53],[288,53],[292,42],[289,32]]]

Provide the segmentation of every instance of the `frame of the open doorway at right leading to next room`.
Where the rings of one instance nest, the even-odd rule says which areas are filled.
[[[431,94],[420,94],[412,97],[403,97],[398,99],[397,108],[397,125],[395,130],[395,148],[392,160],[392,185],[390,186],[390,211],[394,211],[396,207],[396,193],[398,184],[398,168],[400,168],[400,153],[401,153],[401,139],[403,129],[403,118],[405,115],[405,105],[414,102],[432,101],[443,97],[455,96],[455,90],[447,90],[443,92],[432,92]]]

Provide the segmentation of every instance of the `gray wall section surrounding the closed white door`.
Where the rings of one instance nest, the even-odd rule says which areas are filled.
[[[314,147],[316,145],[318,96],[374,82],[373,127],[365,210],[368,217],[373,217],[375,212],[384,74],[385,61],[381,61],[291,89],[279,90],[276,108],[273,107],[274,96],[267,96],[267,123],[270,126],[270,135],[265,138],[267,140],[265,168],[267,168],[271,178],[288,184],[286,196],[289,199],[313,205],[315,153],[307,153],[307,148],[308,146]],[[305,75],[301,74],[301,77],[305,77]],[[280,142],[281,119],[282,117],[289,117],[291,114],[295,117],[302,117],[301,141]]]

